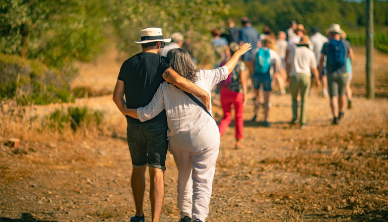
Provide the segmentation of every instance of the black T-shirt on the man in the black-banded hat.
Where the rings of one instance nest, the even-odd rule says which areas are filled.
[[[164,71],[169,67],[166,57],[152,52],[140,52],[127,59],[117,77],[124,82],[126,107],[139,108],[148,105],[164,81]],[[126,116],[126,120],[128,123],[140,123],[129,116]],[[167,122],[165,110],[148,122]]]

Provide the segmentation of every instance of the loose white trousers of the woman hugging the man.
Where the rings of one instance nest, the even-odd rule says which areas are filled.
[[[220,151],[220,138],[200,152],[188,152],[170,146],[178,169],[178,209],[180,217],[205,222],[209,214],[216,160]]]

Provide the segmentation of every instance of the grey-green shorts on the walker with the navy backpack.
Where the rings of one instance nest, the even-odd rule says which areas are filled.
[[[344,74],[329,73],[328,86],[329,86],[330,97],[345,95],[346,84],[348,83],[348,79],[349,79],[348,73],[344,73]]]

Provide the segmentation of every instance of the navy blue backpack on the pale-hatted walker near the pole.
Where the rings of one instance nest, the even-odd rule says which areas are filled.
[[[328,66],[337,70],[345,65],[345,46],[342,40],[330,39],[329,54],[327,56]]]

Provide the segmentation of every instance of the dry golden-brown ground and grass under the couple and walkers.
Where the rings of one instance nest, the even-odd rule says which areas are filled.
[[[388,55],[375,52],[377,97],[367,100],[363,51],[355,48],[353,108],[339,126],[330,125],[329,99],[318,92],[310,97],[303,130],[288,124],[289,94],[273,94],[271,128],[249,121],[253,102],[248,102],[246,147],[234,149],[233,123],[222,138],[207,221],[388,221]],[[79,64],[82,75],[74,87],[112,91],[125,59],[117,57],[113,51]],[[69,105],[75,104],[21,110],[41,117]],[[111,95],[78,99],[76,105],[104,112],[102,132],[92,126],[77,134],[37,131],[37,122],[2,114],[0,221],[129,221],[134,214],[124,117]],[[219,121],[219,101],[213,105]],[[18,149],[5,145],[10,137],[22,139]],[[161,221],[178,221],[171,154],[166,167]],[[147,189],[150,221],[148,196]]]

